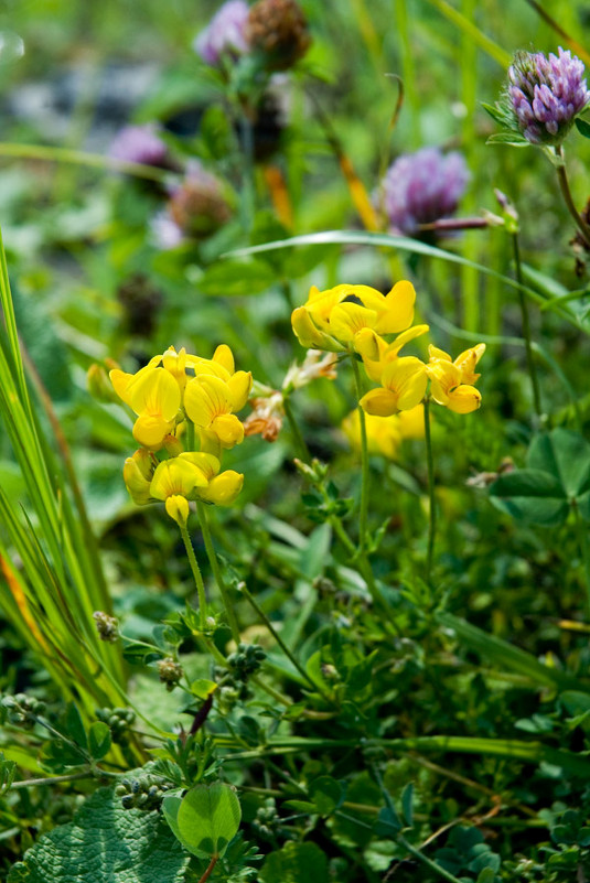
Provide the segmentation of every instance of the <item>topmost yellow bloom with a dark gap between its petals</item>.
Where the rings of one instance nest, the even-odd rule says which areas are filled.
[[[369,286],[336,286],[319,291],[312,287],[308,302],[293,311],[293,332],[302,346],[342,352],[348,345],[360,352],[358,335],[397,334],[414,320],[416,291],[410,282],[397,282],[384,295]],[[366,340],[366,338],[365,338]]]

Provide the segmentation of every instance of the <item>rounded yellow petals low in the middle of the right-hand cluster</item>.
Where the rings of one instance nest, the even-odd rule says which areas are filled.
[[[389,417],[415,408],[428,385],[426,365],[416,356],[403,356],[388,363],[382,375],[382,387],[371,389],[360,401],[366,413]]]

